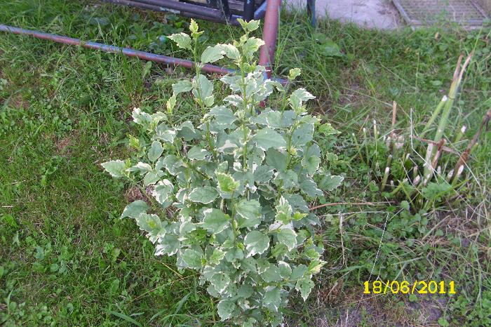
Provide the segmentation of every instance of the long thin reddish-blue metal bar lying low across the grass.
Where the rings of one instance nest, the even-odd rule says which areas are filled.
[[[176,66],[182,66],[187,68],[195,67],[195,62],[191,60],[183,60],[183,59],[168,57],[166,55],[156,55],[155,53],[136,51],[129,48],[120,48],[119,46],[109,46],[107,44],[100,44],[97,42],[91,42],[91,41],[83,42],[79,39],[73,39],[67,36],[36,32],[36,31],[31,31],[29,29],[11,27],[7,25],[0,25],[0,31],[11,32],[13,34],[34,36],[37,39],[55,41],[62,44],[70,44],[72,46],[82,46],[83,48],[96,49],[105,52],[123,53],[123,55],[128,55],[130,57],[140,58],[144,60],[152,60],[156,62],[163,62],[168,65],[176,65]],[[215,66],[215,65],[208,65],[208,64],[204,65],[201,69],[205,72],[211,72],[221,75],[236,74],[237,72],[234,69],[229,69],[229,68]]]

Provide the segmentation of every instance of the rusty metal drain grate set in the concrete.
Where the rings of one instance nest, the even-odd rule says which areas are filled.
[[[392,0],[409,25],[454,21],[466,26],[483,25],[487,16],[470,0]]]

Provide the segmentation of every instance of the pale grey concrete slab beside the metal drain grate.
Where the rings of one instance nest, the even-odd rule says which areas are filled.
[[[285,0],[283,8],[306,8],[307,0]],[[400,15],[388,0],[316,0],[316,18],[354,22],[367,28],[396,29]]]

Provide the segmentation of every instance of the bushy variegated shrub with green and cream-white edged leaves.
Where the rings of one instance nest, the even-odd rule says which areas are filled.
[[[230,95],[217,103],[213,83],[196,67],[194,79],[173,85],[166,113],[134,109],[134,121],[151,138],[147,147],[131,141],[140,149],[140,161],[102,166],[152,189],[152,206],[134,201],[121,218],[136,220],[156,244],[155,255],[175,255],[178,267],[199,272],[208,293],[218,299],[222,320],[277,325],[288,292],[295,288],[307,299],[311,278],[325,263],[311,228],[319,220],[308,201],[342,178],[320,167],[314,132],[321,124],[304,105],[314,96],[302,88],[287,95],[281,84],[264,79],[264,67],[253,63],[264,42],[249,36],[259,22],[241,23],[245,35],[239,41],[208,47],[201,58],[196,22],[191,21],[191,36],[170,36],[203,64],[222,58],[234,62],[239,73],[221,79]],[[290,80],[298,74],[292,69]],[[284,95],[280,107],[261,108],[275,89]],[[197,126],[173,124],[176,97],[183,92],[194,95],[203,111]]]

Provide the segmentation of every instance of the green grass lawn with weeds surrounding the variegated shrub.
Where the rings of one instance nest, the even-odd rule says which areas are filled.
[[[189,54],[159,36],[180,32],[188,22],[89,1],[10,0],[0,12],[5,25],[186,59]],[[240,35],[236,28],[200,26],[203,49]],[[217,27],[224,31],[220,37],[213,36]],[[344,323],[347,313],[349,323],[360,325],[490,323],[490,134],[483,132],[471,153],[461,179],[467,182],[438,201],[424,193],[422,206],[410,210],[401,204],[405,196],[382,194],[373,159],[375,145],[383,147],[382,136],[391,131],[394,100],[396,132],[404,138],[398,157],[424,154],[410,135],[422,131],[448,93],[459,54],[474,50],[445,130],[448,147],[463,151],[491,106],[489,33],[458,27],[381,32],[330,20],[312,31],[304,16],[283,14],[275,72],[302,68],[299,84],[318,97],[311,109],[341,132],[321,140],[337,155],[326,160],[333,173],[346,175],[342,187],[313,203],[331,204],[317,211],[328,265],[306,303],[292,293],[285,309],[290,326]],[[141,195],[99,164],[129,154],[128,134],[142,137],[130,119],[133,107],[162,108],[173,82],[191,74],[156,63],[145,74],[144,64],[0,36],[0,323],[189,326],[219,320],[217,303],[194,273],[179,274],[172,258],[154,257],[134,222],[119,220],[126,203]],[[199,119],[186,100],[176,116]],[[380,135],[372,132],[373,119]],[[453,142],[464,125],[462,140]],[[445,153],[440,162],[451,167],[457,159]],[[455,281],[456,294],[363,296],[370,274],[371,281]]]

